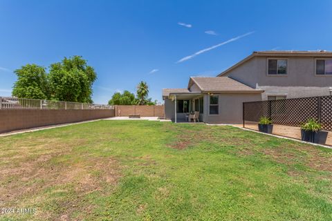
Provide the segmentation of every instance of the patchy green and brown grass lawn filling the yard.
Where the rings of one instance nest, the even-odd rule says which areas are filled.
[[[232,126],[98,121],[0,137],[0,220],[332,220],[332,150]]]

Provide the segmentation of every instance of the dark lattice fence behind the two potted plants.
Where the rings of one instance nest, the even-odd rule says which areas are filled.
[[[332,96],[243,103],[243,126],[246,121],[259,122],[260,117],[270,117],[273,124],[286,126],[300,126],[315,118],[324,130],[332,131]]]

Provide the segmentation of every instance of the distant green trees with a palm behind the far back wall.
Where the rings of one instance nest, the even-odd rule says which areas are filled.
[[[136,97],[128,90],[124,90],[123,93],[114,93],[109,100],[109,105],[155,105],[157,101],[152,102],[151,98],[148,98],[149,86],[147,82],[140,81],[136,90]]]

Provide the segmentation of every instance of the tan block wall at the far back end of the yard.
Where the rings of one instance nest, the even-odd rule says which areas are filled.
[[[128,117],[129,115],[140,115],[141,117],[164,117],[165,106],[154,105],[116,105],[115,115]]]

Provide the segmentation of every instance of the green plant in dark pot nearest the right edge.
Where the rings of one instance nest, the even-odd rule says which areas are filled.
[[[325,144],[327,132],[322,131],[322,124],[315,118],[308,119],[301,125],[301,140],[315,144]]]

